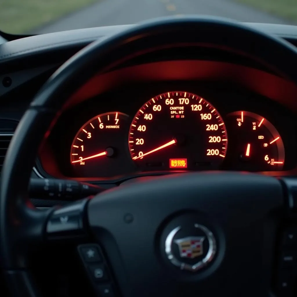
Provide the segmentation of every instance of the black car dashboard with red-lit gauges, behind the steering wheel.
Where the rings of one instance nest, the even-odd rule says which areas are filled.
[[[121,27],[127,26],[97,28],[96,34],[110,35]],[[267,28],[281,28],[279,35],[296,42],[288,34],[297,33],[294,26]],[[69,32],[45,34],[63,42],[33,36],[0,46],[2,162],[38,89],[59,65],[98,38],[95,28]],[[82,32],[89,37],[78,38]],[[23,51],[8,54],[22,42]],[[296,90],[237,54],[191,45],[145,53],[95,75],[69,95],[69,105],[40,147],[32,176],[110,187],[135,177],[189,171],[295,175]]]

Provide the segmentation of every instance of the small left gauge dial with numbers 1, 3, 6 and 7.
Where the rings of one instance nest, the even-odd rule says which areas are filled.
[[[121,174],[113,172],[113,168],[119,169],[117,164],[127,159],[122,143],[128,119],[120,112],[103,113],[79,129],[70,149],[70,162],[78,176],[98,176],[99,172],[104,176]]]

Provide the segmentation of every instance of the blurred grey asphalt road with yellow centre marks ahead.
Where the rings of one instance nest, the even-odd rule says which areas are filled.
[[[96,4],[34,30],[34,33],[127,25],[150,18],[189,14],[214,15],[241,22],[286,23],[285,20],[232,0],[99,0]]]

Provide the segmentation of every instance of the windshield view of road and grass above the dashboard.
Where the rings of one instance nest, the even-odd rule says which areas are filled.
[[[189,14],[292,24],[297,0],[0,0],[0,30],[50,33]]]

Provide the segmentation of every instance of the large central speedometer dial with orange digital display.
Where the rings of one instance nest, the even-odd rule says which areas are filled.
[[[132,159],[143,170],[217,169],[227,151],[227,131],[214,106],[185,91],[146,102],[129,130]]]

